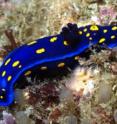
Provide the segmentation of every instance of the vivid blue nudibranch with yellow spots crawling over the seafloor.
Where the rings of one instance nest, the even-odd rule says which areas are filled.
[[[109,48],[117,46],[117,25],[78,28],[76,24],[68,24],[58,35],[37,39],[13,50],[0,67],[0,106],[13,102],[13,87],[19,78],[30,75],[34,69],[52,71],[75,65],[90,42],[105,43]]]

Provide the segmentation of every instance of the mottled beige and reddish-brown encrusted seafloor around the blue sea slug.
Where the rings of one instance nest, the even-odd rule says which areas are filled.
[[[117,24],[117,0],[0,0],[0,64],[14,48],[69,22]],[[67,75],[19,82],[15,102],[0,107],[0,124],[117,124],[117,48],[90,51]]]

